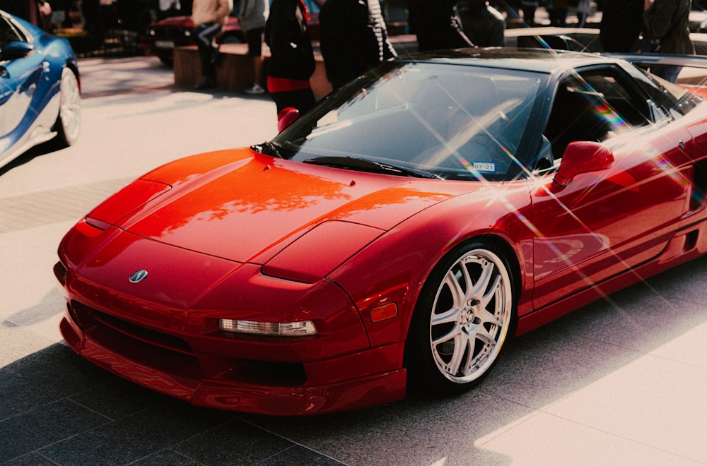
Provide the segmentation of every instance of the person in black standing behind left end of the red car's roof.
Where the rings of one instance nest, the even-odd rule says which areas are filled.
[[[408,23],[421,52],[474,47],[454,12],[457,0],[409,0]]]

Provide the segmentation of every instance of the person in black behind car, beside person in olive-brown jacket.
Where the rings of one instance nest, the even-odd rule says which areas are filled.
[[[633,52],[643,29],[643,0],[611,0],[604,4],[599,42],[604,52]]]

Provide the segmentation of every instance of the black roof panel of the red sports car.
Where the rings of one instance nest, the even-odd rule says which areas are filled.
[[[489,47],[479,49],[452,49],[431,53],[411,54],[403,61],[428,61],[466,66],[488,66],[508,70],[554,73],[582,66],[617,63],[600,54],[568,52],[555,49],[516,49],[512,47]]]

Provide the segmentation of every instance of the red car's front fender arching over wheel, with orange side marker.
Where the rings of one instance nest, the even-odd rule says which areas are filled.
[[[329,274],[356,303],[372,346],[401,342],[428,276],[456,246],[471,239],[501,249],[516,280],[519,306],[532,261],[530,193],[525,181],[489,184],[409,217]],[[524,308],[525,309],[525,308]]]

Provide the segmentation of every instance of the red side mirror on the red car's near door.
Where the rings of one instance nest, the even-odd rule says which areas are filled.
[[[614,153],[600,143],[575,141],[569,143],[562,155],[554,181],[567,186],[578,174],[598,172],[614,165]]]

